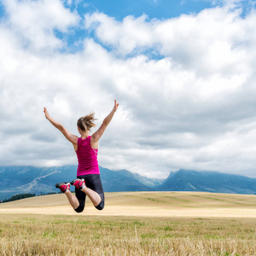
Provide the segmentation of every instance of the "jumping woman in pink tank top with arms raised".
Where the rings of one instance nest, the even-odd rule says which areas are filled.
[[[47,109],[44,108],[45,118],[60,130],[70,143],[73,143],[73,148],[78,157],[77,178],[70,183],[55,184],[56,188],[61,189],[61,192],[67,195],[68,201],[76,212],[84,211],[86,195],[88,195],[96,209],[102,210],[104,208],[104,192],[97,160],[98,144],[118,107],[119,103],[114,101],[113,110],[103,120],[100,128],[91,136],[90,129],[96,126],[94,113],[79,118],[77,125],[81,137],[67,131],[63,125],[51,118]],[[75,195],[70,192],[70,184],[75,186]]]

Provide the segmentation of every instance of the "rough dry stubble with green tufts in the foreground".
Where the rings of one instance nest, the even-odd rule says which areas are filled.
[[[256,255],[256,219],[0,214],[0,255]]]

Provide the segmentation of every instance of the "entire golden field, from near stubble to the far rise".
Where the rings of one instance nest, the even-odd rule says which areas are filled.
[[[73,212],[65,195],[0,205],[0,255],[256,255],[254,195],[107,193]]]

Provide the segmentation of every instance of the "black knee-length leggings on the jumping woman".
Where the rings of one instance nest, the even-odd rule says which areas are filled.
[[[78,176],[79,178],[84,178],[84,182],[87,188],[92,189],[94,191],[96,191],[96,193],[98,193],[101,198],[102,201],[96,206],[96,209],[98,210],[102,210],[104,208],[104,191],[102,188],[102,180],[101,180],[101,176],[99,174],[88,174],[88,175],[82,175],[82,176]],[[84,206],[85,206],[85,198],[86,198],[86,194],[79,190],[79,189],[75,189],[76,192],[76,197],[79,200],[79,207],[77,207],[75,209],[76,212],[83,212],[84,211]]]

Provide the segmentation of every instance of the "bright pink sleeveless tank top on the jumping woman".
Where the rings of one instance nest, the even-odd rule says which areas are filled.
[[[79,160],[77,176],[87,174],[100,174],[97,155],[98,149],[91,148],[90,136],[84,140],[79,137],[78,150],[76,151]]]

